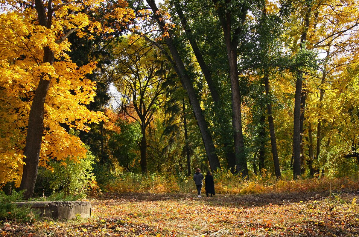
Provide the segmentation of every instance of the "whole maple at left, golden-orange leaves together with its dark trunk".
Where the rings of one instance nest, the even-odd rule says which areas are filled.
[[[62,160],[69,154],[76,154],[73,159],[85,155],[82,142],[70,136],[61,124],[88,131],[87,123],[106,119],[103,113],[91,112],[85,106],[95,96],[95,83],[86,79],[86,74],[96,63],[78,68],[66,54],[70,46],[66,38],[71,33],[84,37],[85,27],[89,32],[102,30],[98,21],[90,21],[83,13],[95,9],[98,3],[1,2],[6,10],[1,14],[1,78],[3,101],[9,106],[2,112],[7,115],[6,124],[22,124],[20,133],[14,127],[5,137],[9,140],[12,133],[22,135],[22,139],[12,141],[10,153],[1,153],[11,165],[12,171],[8,172],[13,174],[3,179],[18,181],[22,172],[20,189],[27,190],[26,198],[33,193],[39,156],[45,164],[49,157]],[[122,7],[115,9],[118,19],[131,13],[126,6],[122,2]]]

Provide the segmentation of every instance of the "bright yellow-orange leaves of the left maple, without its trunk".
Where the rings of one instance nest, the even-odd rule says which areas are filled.
[[[70,135],[60,124],[74,130],[89,131],[89,123],[107,121],[102,112],[89,111],[86,105],[94,100],[96,84],[86,78],[96,68],[96,62],[77,67],[66,54],[70,50],[66,33],[73,30],[78,37],[82,31],[99,33],[101,24],[81,13],[95,10],[101,1],[52,1],[51,28],[38,25],[37,11],[32,1],[0,0],[0,188],[6,182],[19,184],[23,166],[23,149],[29,111],[40,77],[51,80],[44,108],[44,131],[40,153],[41,166],[50,159],[64,160],[67,156],[79,162],[86,156],[80,139]],[[47,3],[45,3],[46,5]],[[133,11],[119,1],[115,15],[117,24],[128,22]],[[113,16],[113,17],[116,17]],[[106,28],[106,32],[111,29]],[[55,55],[55,63],[43,63],[44,48]],[[51,169],[51,167],[48,167]]]

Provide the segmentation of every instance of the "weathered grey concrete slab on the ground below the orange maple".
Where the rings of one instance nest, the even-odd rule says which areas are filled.
[[[73,219],[76,214],[82,218],[91,216],[90,202],[81,201],[56,201],[56,202],[17,202],[19,206],[31,205],[41,217],[49,217],[60,221]]]

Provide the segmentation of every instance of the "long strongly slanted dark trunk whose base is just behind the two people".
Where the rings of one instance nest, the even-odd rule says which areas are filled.
[[[180,78],[181,78],[182,86],[187,91],[188,99],[191,103],[195,118],[197,120],[199,129],[201,132],[201,136],[202,136],[203,144],[204,144],[204,147],[206,150],[206,154],[208,156],[210,168],[212,171],[216,171],[217,168],[220,168],[221,166],[219,163],[218,156],[215,153],[215,147],[214,147],[214,143],[212,140],[212,136],[208,129],[207,122],[204,118],[202,108],[201,108],[199,100],[197,98],[197,93],[195,92],[193,85],[191,83],[191,80],[188,77],[185,65],[180,57],[180,54],[177,51],[177,48],[175,47],[175,45],[173,43],[170,32],[165,30],[166,29],[165,23],[162,20],[163,18],[161,16],[161,14],[159,14],[159,11],[158,11],[155,1],[154,0],[146,0],[146,2],[152,9],[152,11],[154,13],[153,16],[157,20],[157,23],[159,24],[162,33],[163,34],[165,32],[168,33],[168,36],[165,37],[164,40],[165,40],[165,43],[167,44],[167,47],[169,48],[171,55],[173,57],[173,61],[174,61],[173,67],[174,67],[176,73],[178,74],[178,76],[180,76]]]

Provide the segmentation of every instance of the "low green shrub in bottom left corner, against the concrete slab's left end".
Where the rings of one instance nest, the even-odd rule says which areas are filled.
[[[38,219],[38,216],[30,211],[30,205],[19,207],[15,202],[23,199],[24,191],[12,191],[11,195],[6,195],[0,190],[0,219],[16,220],[19,222],[31,222]]]

